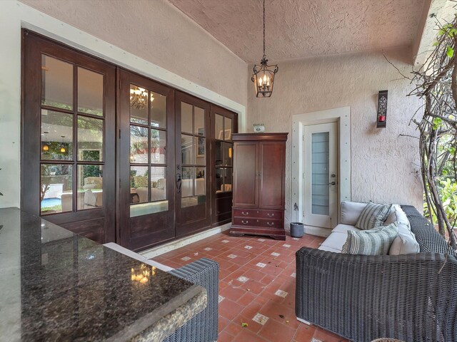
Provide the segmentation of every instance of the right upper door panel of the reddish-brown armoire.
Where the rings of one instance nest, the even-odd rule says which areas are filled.
[[[259,208],[283,208],[285,150],[286,145],[283,142],[259,143]]]

